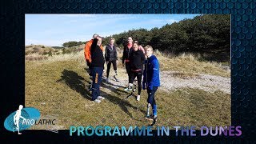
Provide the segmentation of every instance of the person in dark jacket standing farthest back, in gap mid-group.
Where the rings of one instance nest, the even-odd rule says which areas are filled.
[[[114,46],[114,38],[110,38],[110,44],[106,45],[106,49],[105,49],[105,59],[106,59],[106,82],[109,82],[109,75],[110,75],[110,67],[111,64],[113,64],[114,67],[114,78],[116,81],[118,81],[118,79],[116,78],[116,76],[118,75],[118,69],[117,69],[117,61],[118,61],[118,53],[117,53],[117,49]]]

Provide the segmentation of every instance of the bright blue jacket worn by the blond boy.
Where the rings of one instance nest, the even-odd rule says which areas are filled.
[[[158,58],[151,55],[145,61],[145,70],[143,72],[143,82],[146,86],[153,90],[153,86],[160,86],[159,62]]]

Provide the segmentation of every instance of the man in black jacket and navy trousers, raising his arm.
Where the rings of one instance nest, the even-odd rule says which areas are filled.
[[[90,46],[91,67],[93,76],[92,85],[92,101],[101,102],[104,97],[100,96],[99,87],[102,82],[102,73],[104,68],[105,59],[103,56],[102,38],[97,36],[94,38]]]

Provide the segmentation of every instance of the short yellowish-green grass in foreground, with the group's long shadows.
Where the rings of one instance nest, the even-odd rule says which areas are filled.
[[[176,61],[178,62],[178,61]],[[181,64],[178,64],[181,65]],[[42,115],[58,114],[58,123],[69,126],[147,126],[146,92],[137,102],[124,100],[128,94],[121,88],[102,85],[106,99],[90,101],[86,90],[89,78],[75,60],[26,62],[26,106]],[[155,126],[230,126],[230,95],[218,91],[181,89],[170,93],[158,90],[158,122]],[[45,102],[45,104],[44,104]]]

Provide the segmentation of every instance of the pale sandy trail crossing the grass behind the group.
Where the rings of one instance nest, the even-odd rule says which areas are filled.
[[[110,72],[110,85],[114,89],[119,87],[125,87],[128,84],[128,76],[125,74],[125,70],[118,71],[118,79],[119,82],[115,82],[113,75],[114,73]],[[175,76],[177,71],[161,71],[160,72],[160,81],[162,90],[175,90],[178,88],[197,88],[201,90],[205,90],[208,92],[214,92],[216,90],[221,90],[226,94],[230,94],[230,78],[225,78],[221,76],[215,76],[210,74],[196,74],[196,77],[192,78],[178,78]],[[106,73],[103,74],[105,76],[103,78],[103,82],[105,82]],[[108,91],[110,92],[110,91]]]

